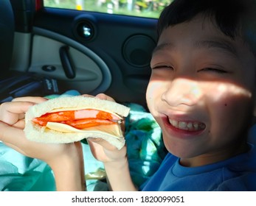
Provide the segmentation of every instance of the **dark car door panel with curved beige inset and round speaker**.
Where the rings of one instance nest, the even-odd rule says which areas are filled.
[[[81,32],[83,26],[91,29],[89,38]],[[32,21],[27,71],[55,77],[65,90],[107,93],[117,102],[145,104],[155,28],[153,18],[44,8],[35,13]],[[69,48],[74,78],[66,77],[63,70],[62,46]],[[14,65],[14,70],[22,70]],[[45,65],[56,69],[44,71]]]

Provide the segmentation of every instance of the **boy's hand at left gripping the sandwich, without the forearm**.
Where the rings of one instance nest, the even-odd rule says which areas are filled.
[[[67,154],[72,144],[46,144],[27,140],[24,135],[24,115],[32,105],[46,101],[42,97],[21,97],[0,105],[0,141],[27,157],[51,164],[55,157]]]

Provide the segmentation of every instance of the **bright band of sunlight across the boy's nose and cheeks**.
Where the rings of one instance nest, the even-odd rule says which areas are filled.
[[[223,81],[151,79],[147,90],[148,107],[153,116],[158,115],[157,107],[162,110],[176,107],[176,110],[191,112],[195,106],[196,108],[218,107],[218,105],[231,105],[232,101],[248,104],[252,98],[252,91],[249,88]]]

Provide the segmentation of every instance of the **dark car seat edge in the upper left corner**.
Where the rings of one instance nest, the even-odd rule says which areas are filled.
[[[15,21],[13,7],[9,0],[0,1],[0,70],[9,71],[13,55]]]

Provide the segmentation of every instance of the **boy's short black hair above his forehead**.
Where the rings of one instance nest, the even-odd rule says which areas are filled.
[[[163,29],[190,21],[199,13],[210,17],[230,38],[241,34],[256,51],[256,0],[174,0],[159,17],[157,34]],[[255,52],[256,53],[256,52]]]

